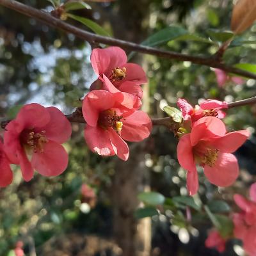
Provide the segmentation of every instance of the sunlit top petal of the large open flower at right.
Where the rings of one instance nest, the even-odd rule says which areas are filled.
[[[214,116],[205,116],[193,124],[191,129],[191,145],[195,146],[199,140],[211,140],[226,133],[225,124]]]

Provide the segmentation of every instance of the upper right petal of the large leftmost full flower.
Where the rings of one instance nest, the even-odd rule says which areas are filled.
[[[58,108],[49,107],[46,109],[51,116],[51,122],[42,127],[41,131],[45,131],[44,135],[48,140],[53,140],[60,144],[64,143],[71,136],[72,127],[70,122]]]

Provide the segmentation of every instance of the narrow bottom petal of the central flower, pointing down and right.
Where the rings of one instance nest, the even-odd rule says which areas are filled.
[[[126,161],[129,157],[129,148],[125,141],[112,128],[108,129],[109,138],[115,154]]]

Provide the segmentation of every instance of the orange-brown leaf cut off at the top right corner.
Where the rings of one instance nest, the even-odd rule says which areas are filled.
[[[239,0],[233,8],[231,29],[235,34],[243,33],[256,20],[256,1]]]

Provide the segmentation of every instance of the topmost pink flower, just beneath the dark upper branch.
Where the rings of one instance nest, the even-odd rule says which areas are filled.
[[[98,79],[90,90],[127,92],[142,97],[140,85],[147,83],[146,74],[140,65],[127,63],[125,51],[120,47],[93,49],[91,61]]]

